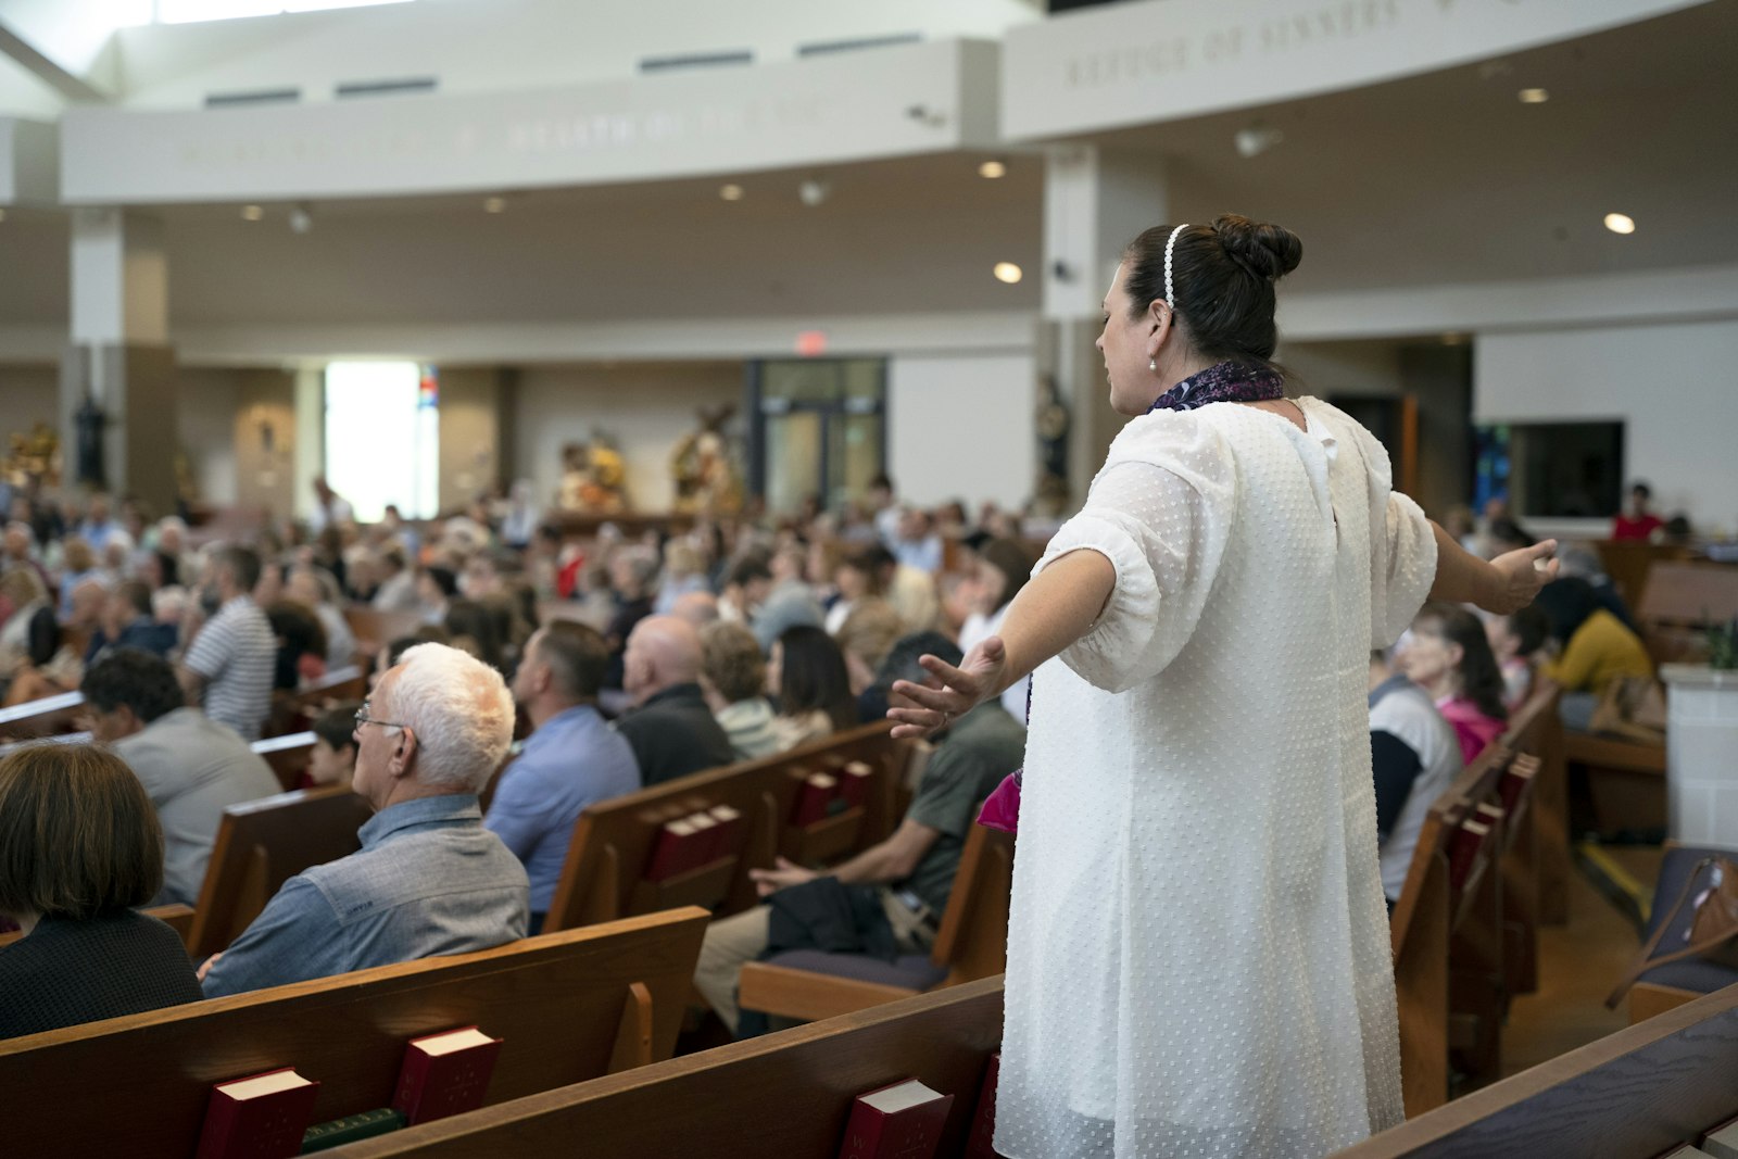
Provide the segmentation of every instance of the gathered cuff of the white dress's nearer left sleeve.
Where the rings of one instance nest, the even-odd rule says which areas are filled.
[[[1138,685],[1145,672],[1140,660],[1152,643],[1159,622],[1159,582],[1123,520],[1083,511],[1062,525],[1050,540],[1038,575],[1071,551],[1097,551],[1116,568],[1116,587],[1098,620],[1085,636],[1062,650],[1062,662],[1105,692],[1123,692]]]

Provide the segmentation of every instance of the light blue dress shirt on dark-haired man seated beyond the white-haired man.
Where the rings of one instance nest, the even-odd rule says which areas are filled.
[[[501,773],[483,825],[525,862],[534,914],[549,911],[580,810],[638,787],[633,747],[589,704],[551,716],[527,737]]]

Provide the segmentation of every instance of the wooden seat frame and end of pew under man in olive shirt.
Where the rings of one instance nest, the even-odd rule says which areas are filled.
[[[930,950],[945,971],[928,990],[977,982],[1008,966],[1008,897],[1013,890],[1013,834],[972,825],[959,855],[959,874]],[[779,1018],[813,1022],[878,1006],[923,990],[826,973],[826,959],[853,954],[803,952],[801,964],[779,959],[742,968],[739,1003]]]

